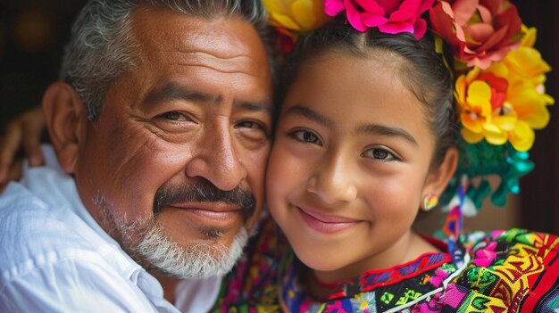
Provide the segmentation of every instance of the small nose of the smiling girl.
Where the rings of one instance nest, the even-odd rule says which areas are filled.
[[[326,204],[352,202],[357,197],[354,177],[341,155],[325,159],[317,166],[307,183],[307,191]]]

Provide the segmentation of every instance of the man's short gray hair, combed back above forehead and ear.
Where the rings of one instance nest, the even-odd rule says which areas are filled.
[[[72,26],[60,78],[86,103],[89,120],[95,120],[103,110],[104,95],[111,84],[135,64],[138,49],[131,32],[131,14],[140,4],[206,19],[239,16],[254,26],[264,44],[269,42],[261,0],[88,1]]]

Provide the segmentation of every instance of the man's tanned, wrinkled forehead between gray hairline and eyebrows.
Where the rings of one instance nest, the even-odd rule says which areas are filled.
[[[135,12],[133,19],[141,54],[139,62],[242,74],[245,77],[239,75],[236,79],[251,81],[270,79],[269,73],[263,70],[263,66],[269,65],[263,42],[254,26],[240,17],[205,20],[156,7],[146,8],[149,10]],[[157,18],[153,12],[146,14],[149,11],[157,11]]]

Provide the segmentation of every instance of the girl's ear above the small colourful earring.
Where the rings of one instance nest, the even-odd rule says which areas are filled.
[[[423,187],[422,196],[425,197],[429,194],[437,195],[437,197],[445,191],[446,185],[455,175],[456,167],[458,165],[458,150],[455,147],[450,147],[446,150],[445,160],[438,166],[432,169],[427,177]]]

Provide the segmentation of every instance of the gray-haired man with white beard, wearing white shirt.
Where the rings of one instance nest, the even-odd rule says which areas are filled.
[[[0,197],[0,311],[198,305],[179,279],[229,271],[263,206],[264,27],[258,1],[85,6],[43,100],[54,151]]]

